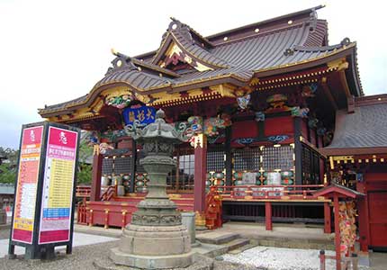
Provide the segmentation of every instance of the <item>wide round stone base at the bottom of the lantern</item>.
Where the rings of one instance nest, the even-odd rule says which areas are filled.
[[[111,249],[114,264],[145,269],[186,267],[193,264],[191,240],[183,225],[128,225],[119,247]]]

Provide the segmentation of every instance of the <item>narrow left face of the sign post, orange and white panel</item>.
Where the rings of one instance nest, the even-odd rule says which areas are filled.
[[[27,244],[32,243],[42,136],[43,126],[27,128],[22,132],[12,239]]]

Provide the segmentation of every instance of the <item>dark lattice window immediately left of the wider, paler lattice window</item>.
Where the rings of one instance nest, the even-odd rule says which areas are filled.
[[[234,170],[259,170],[259,148],[237,148],[233,153]]]

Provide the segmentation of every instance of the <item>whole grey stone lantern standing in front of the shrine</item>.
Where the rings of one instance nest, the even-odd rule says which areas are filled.
[[[193,264],[188,231],[175,202],[166,194],[166,176],[176,166],[174,146],[186,139],[183,130],[175,130],[164,117],[164,112],[158,110],[156,121],[144,129],[137,129],[135,124],[126,127],[130,136],[143,145],[146,157],[139,164],[150,181],[148,195],[139,202],[138,211],[123,230],[120,245],[111,250],[116,265],[161,269]]]

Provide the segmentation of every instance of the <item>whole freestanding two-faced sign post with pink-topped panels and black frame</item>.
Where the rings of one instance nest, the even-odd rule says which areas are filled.
[[[23,125],[8,254],[50,258],[56,246],[72,251],[79,130],[38,122]]]

